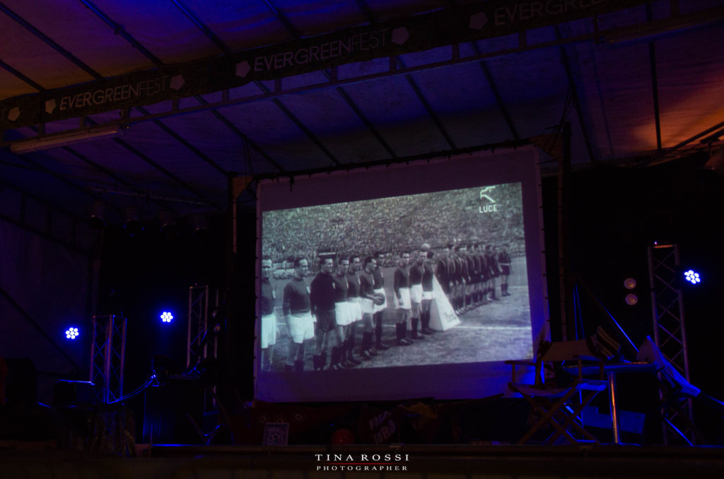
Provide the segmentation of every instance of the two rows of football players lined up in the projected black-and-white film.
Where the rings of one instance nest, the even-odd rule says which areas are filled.
[[[289,332],[285,371],[304,370],[305,350],[310,347],[314,370],[354,368],[390,347],[382,342],[382,312],[387,309],[383,274],[386,258],[384,251],[363,261],[359,255],[337,256],[335,267],[335,258],[325,255],[319,259],[319,274],[309,286],[304,280],[308,260],[295,258],[294,274],[282,292],[282,314]],[[271,268],[271,258],[264,256],[260,343],[261,369],[265,371],[271,370],[279,336],[274,308],[277,287],[271,279]],[[445,245],[437,257],[427,243],[418,250],[402,251],[392,277],[395,345],[409,346],[434,333],[430,328],[434,278],[455,313],[464,315],[499,300],[498,284],[501,296],[510,296],[508,276],[512,272],[508,245],[502,245],[500,253],[497,247],[480,243]],[[361,342],[355,348],[358,329]]]

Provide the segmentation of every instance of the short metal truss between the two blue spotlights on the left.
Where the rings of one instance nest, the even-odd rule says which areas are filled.
[[[123,368],[126,350],[126,318],[119,315],[93,316],[90,344],[90,382],[108,404],[123,396]]]

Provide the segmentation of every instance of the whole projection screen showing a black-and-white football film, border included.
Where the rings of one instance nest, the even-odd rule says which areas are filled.
[[[534,355],[532,147],[260,182],[257,222],[256,399],[487,397]]]

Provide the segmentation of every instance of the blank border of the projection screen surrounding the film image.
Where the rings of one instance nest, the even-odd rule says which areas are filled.
[[[265,180],[258,185],[256,276],[261,278],[261,219],[264,211],[303,208],[372,198],[459,190],[520,182],[531,313],[531,351],[547,335],[544,245],[538,151],[533,147],[478,152],[416,163],[333,171],[311,177]],[[308,258],[310,263],[315,258]],[[259,281],[256,281],[256,295]],[[259,305],[256,304],[258,317]],[[398,400],[421,397],[467,399],[506,393],[510,366],[489,363],[366,368],[303,373],[260,370],[256,321],[255,399],[266,402]],[[286,348],[277,342],[276,347]],[[525,359],[511,357],[510,359]],[[332,386],[330,386],[332,385]]]

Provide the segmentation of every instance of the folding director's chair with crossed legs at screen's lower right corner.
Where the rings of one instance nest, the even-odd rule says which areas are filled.
[[[581,368],[584,361],[599,363],[599,379],[583,377]],[[513,366],[513,380],[508,383],[508,387],[511,391],[521,394],[531,404],[532,417],[538,417],[518,444],[529,441],[546,424],[555,429],[546,439],[547,444],[555,444],[560,436],[568,439],[571,444],[578,444],[579,439],[574,435],[600,444],[592,433],[584,429],[580,418],[584,407],[608,386],[607,381],[603,379],[605,377],[603,360],[591,352],[586,340],[546,342],[539,347],[535,361],[515,360],[506,363]],[[563,366],[568,366],[570,363],[577,365],[577,376],[565,373]],[[518,366],[535,367],[534,383],[517,382]],[[551,374],[552,372],[555,373]]]

